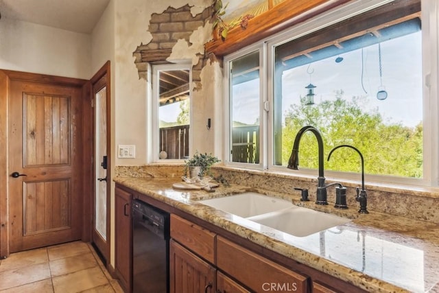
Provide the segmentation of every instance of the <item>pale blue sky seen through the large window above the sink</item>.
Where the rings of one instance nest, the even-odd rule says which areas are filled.
[[[334,56],[326,60],[304,65],[284,72],[283,110],[300,101],[307,94],[310,82],[314,89],[314,102],[335,99],[335,91],[343,90],[344,98],[365,96],[366,110],[377,108],[384,121],[416,126],[423,119],[422,99],[422,55],[420,32],[381,43],[382,84],[388,93],[385,100],[377,99],[380,90],[378,45],[340,55],[342,62]],[[364,64],[361,68],[361,63]],[[309,74],[311,73],[311,75]],[[311,78],[311,79],[310,79]],[[259,116],[257,81],[235,86],[234,121],[253,124]]]

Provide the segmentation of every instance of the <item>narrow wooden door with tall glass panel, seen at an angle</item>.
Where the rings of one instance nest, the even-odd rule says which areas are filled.
[[[91,79],[94,129],[94,198],[91,242],[107,265],[110,256],[110,61]]]

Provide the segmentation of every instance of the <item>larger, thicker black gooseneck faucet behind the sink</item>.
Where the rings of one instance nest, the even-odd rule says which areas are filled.
[[[305,126],[302,127],[299,132],[296,134],[296,139],[294,139],[294,145],[293,150],[291,152],[291,156],[288,160],[288,169],[294,169],[298,170],[299,165],[299,143],[300,139],[302,138],[302,135],[307,132],[311,131],[316,136],[317,143],[318,143],[318,185],[317,185],[317,200],[316,204],[322,204],[327,205],[327,186],[324,183],[324,159],[323,159],[323,139],[322,134],[317,130],[317,128],[313,126]]]

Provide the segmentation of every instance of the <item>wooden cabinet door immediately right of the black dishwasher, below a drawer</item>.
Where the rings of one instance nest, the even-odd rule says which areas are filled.
[[[171,293],[213,293],[216,290],[215,268],[172,239],[169,274]]]

